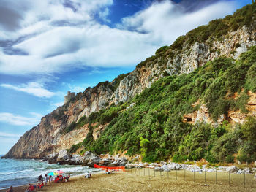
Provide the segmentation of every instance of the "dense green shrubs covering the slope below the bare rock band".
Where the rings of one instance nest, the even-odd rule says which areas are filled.
[[[105,110],[83,117],[67,130],[85,123],[109,123],[101,137],[94,141],[92,130],[80,146],[100,153],[127,151],[127,155],[141,154],[143,161],[199,160],[211,163],[256,160],[256,119],[244,125],[231,126],[227,121],[217,128],[183,120],[185,113],[194,112],[205,103],[211,118],[228,110],[248,112],[245,104],[248,91],[255,92],[256,47],[251,47],[237,61],[218,58],[190,74],[164,77],[135,96],[129,103],[135,106],[124,110],[129,103],[112,104]],[[234,93],[238,96],[234,97]],[[70,149],[77,148],[76,145]]]

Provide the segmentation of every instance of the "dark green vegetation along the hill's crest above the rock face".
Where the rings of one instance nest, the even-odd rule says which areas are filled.
[[[227,15],[223,19],[211,20],[206,26],[199,26],[186,35],[178,37],[175,42],[170,46],[164,46],[156,51],[156,55],[147,58],[146,61],[141,62],[136,66],[140,68],[142,66],[148,66],[157,63],[157,59],[161,57],[163,60],[166,57],[174,58],[174,56],[181,52],[183,47],[189,47],[195,42],[203,42],[211,45],[214,40],[221,41],[222,38],[229,31],[236,31],[243,26],[250,27],[252,18],[256,17],[256,4],[248,4],[242,9],[238,9],[233,15]],[[235,48],[240,47],[237,43]],[[214,50],[211,50],[214,51]],[[220,53],[220,50],[216,50]],[[233,52],[235,53],[235,52]]]

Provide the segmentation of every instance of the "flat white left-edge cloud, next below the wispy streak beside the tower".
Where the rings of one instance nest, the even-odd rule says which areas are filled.
[[[10,112],[0,112],[0,122],[8,123],[15,126],[33,126],[39,123],[40,118],[34,117],[23,117],[15,115]]]

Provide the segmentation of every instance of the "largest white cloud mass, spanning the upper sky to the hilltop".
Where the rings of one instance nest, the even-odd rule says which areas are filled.
[[[4,74],[53,74],[86,66],[135,66],[154,55],[157,48],[170,45],[179,35],[235,9],[234,1],[220,1],[196,12],[184,12],[171,1],[161,1],[123,18],[118,28],[110,28],[97,23],[93,15],[100,12],[99,17],[106,19],[112,0],[74,0],[72,6],[76,12],[64,7],[61,0],[26,1],[31,5],[24,13],[23,27],[13,34],[36,35],[14,46],[29,55],[5,55],[0,50],[0,71]],[[52,25],[62,21],[68,24]],[[12,37],[12,33],[9,35]]]

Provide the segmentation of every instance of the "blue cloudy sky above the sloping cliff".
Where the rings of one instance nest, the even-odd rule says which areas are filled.
[[[251,0],[0,0],[0,154],[67,91],[132,72],[164,45]]]

